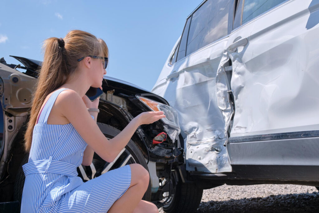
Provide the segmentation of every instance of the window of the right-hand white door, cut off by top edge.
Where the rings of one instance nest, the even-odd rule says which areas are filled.
[[[245,0],[241,24],[259,16],[286,0]]]

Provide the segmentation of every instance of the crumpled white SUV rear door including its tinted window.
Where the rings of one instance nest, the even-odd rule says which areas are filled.
[[[188,171],[231,171],[215,78],[232,30],[233,2],[204,1],[189,15],[152,89],[179,113]]]

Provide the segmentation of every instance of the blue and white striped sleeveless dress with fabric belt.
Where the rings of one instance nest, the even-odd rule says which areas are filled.
[[[34,126],[29,160],[22,166],[26,179],[21,212],[107,212],[130,186],[130,165],[87,182],[77,176],[86,142],[71,123],[47,124],[57,96],[65,89],[50,95]]]

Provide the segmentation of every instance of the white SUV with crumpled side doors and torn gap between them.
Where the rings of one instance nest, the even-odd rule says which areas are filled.
[[[318,0],[207,0],[187,17],[152,92],[178,111],[189,180],[319,186],[318,23]]]

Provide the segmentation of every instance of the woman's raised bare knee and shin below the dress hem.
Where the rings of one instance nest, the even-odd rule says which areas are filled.
[[[108,210],[109,213],[133,212],[133,210],[137,207],[137,205],[139,204],[139,202],[141,201],[143,195],[145,194],[147,190],[148,183],[150,180],[150,175],[148,171],[140,164],[130,164],[130,167],[131,167],[130,187],[117,201],[113,203],[111,208]],[[144,205],[145,203],[143,202],[142,207],[144,207]]]

